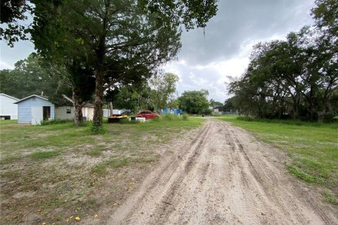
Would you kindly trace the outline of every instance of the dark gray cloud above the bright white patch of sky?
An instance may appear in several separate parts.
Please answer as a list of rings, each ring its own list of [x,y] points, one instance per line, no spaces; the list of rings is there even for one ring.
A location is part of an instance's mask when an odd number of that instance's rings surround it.
[[[193,65],[236,56],[244,41],[282,36],[311,23],[308,0],[221,0],[206,29],[182,34],[180,59]]]

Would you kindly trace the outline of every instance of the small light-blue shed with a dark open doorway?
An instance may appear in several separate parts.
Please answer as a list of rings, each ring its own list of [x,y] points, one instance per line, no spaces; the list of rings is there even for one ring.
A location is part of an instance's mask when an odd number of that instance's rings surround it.
[[[18,104],[18,123],[19,124],[40,124],[42,120],[54,119],[54,104],[48,101],[46,96],[33,94],[23,98]]]

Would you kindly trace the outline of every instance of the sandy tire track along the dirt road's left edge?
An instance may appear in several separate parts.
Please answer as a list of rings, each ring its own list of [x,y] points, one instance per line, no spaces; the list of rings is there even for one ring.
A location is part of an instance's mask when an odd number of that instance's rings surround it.
[[[179,181],[182,180],[185,174],[189,172],[189,169],[191,169],[194,158],[199,154],[199,149],[206,140],[210,124],[210,122],[207,122],[190,143],[178,146],[173,156],[166,159],[166,162],[151,172],[139,188],[139,192],[129,198],[126,203],[115,211],[111,216],[112,219],[108,221],[108,224],[120,224],[117,221],[121,221],[124,217],[127,217],[128,214],[137,210],[137,205],[141,205],[140,202],[142,201],[153,203],[153,205],[148,206],[149,208],[143,210],[144,212],[141,212],[141,214],[144,215],[144,217],[148,217],[149,221],[154,221],[152,217],[156,207],[160,203],[163,203],[165,206],[170,205],[165,200],[168,199],[168,197],[165,198],[165,193],[166,195],[175,193],[175,190],[180,188],[181,183]],[[162,199],[158,200],[160,198]],[[163,206],[163,204],[161,205]],[[130,206],[133,205],[134,207],[131,209]],[[149,224],[149,221],[139,220],[136,224]],[[130,222],[131,221],[128,221],[127,224]]]

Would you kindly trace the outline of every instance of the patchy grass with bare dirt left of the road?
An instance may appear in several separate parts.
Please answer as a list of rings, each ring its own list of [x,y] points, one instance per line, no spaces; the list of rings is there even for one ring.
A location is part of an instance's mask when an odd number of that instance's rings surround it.
[[[202,123],[163,117],[105,124],[106,134],[90,135],[72,122],[0,121],[0,224],[105,223],[98,210],[123,202],[163,154],[158,148]]]

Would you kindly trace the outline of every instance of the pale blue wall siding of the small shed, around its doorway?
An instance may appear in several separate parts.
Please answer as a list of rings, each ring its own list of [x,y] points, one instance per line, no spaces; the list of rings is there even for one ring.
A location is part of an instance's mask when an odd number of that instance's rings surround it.
[[[25,101],[18,103],[18,124],[30,124],[32,122],[32,107],[51,107],[51,120],[54,119],[55,109],[54,104],[42,98],[33,96]]]

